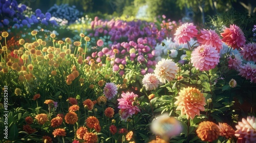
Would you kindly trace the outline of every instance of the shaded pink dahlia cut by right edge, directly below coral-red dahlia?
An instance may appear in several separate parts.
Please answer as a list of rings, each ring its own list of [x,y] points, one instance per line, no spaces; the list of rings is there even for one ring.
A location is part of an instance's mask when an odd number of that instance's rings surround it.
[[[248,43],[241,47],[241,55],[247,61],[256,62],[256,43]]]

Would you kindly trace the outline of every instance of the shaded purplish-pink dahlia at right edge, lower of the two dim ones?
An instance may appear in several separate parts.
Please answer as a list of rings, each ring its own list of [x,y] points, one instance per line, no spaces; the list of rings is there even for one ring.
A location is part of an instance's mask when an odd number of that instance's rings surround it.
[[[247,80],[251,80],[251,82],[256,83],[256,64],[249,63],[244,64],[244,66],[241,66],[239,70],[239,74],[242,77],[245,77]]]

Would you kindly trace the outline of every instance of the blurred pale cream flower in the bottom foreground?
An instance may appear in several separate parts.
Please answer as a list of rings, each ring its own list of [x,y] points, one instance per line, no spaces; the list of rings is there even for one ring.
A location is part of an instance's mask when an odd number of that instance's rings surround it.
[[[157,117],[151,124],[151,131],[162,138],[178,135],[181,130],[179,121],[175,117],[169,117],[168,114]]]

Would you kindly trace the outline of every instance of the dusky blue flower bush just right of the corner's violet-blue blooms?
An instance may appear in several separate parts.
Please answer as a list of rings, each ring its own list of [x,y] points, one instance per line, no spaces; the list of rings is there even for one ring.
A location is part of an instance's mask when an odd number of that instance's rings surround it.
[[[48,12],[52,13],[54,17],[68,20],[69,23],[75,22],[82,15],[82,12],[79,12],[76,6],[70,7],[68,4],[61,4],[59,6],[54,4]]]

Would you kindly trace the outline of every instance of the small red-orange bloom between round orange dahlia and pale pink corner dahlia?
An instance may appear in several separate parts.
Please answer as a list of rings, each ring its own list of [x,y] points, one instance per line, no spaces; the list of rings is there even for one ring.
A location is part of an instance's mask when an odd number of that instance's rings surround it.
[[[220,136],[225,136],[226,138],[234,136],[234,129],[227,123],[219,123],[218,128],[220,129]]]

